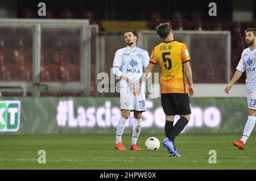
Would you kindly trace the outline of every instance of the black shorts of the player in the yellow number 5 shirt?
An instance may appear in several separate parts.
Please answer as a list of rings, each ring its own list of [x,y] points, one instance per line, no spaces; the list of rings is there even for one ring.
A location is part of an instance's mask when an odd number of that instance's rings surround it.
[[[188,94],[161,94],[161,102],[167,116],[191,114]]]

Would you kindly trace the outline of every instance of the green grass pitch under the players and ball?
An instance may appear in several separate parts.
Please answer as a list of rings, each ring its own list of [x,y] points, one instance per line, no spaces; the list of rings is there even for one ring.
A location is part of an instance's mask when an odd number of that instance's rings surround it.
[[[0,135],[0,169],[256,169],[256,134],[244,150],[232,145],[241,134],[181,134],[176,148],[181,157],[168,157],[160,145],[157,151],[144,148],[154,136],[141,134],[137,144],[142,151],[129,150],[131,134],[122,136],[128,150],[114,149],[115,134]],[[38,163],[38,151],[46,151],[46,163]],[[217,163],[208,162],[209,150],[216,150]]]

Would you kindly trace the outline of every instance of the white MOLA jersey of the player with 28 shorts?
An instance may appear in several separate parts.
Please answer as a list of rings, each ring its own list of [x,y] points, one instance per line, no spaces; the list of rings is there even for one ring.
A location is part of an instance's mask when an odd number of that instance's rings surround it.
[[[150,57],[148,52],[138,47],[125,47],[115,52],[113,68],[117,67],[136,85],[142,76],[143,70],[147,67]],[[142,90],[144,82],[142,84]],[[121,79],[120,91],[130,91],[129,84],[126,80]]]

